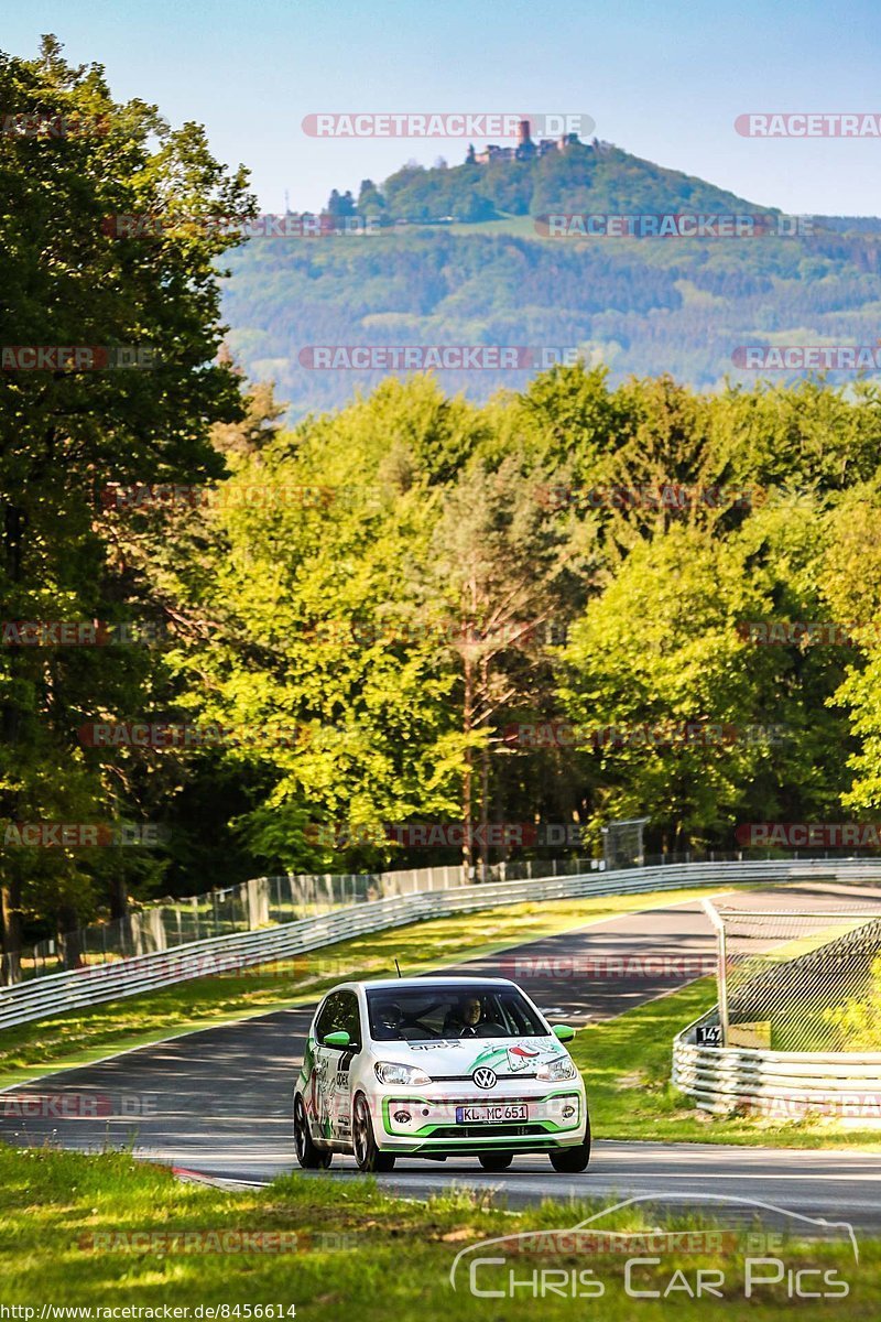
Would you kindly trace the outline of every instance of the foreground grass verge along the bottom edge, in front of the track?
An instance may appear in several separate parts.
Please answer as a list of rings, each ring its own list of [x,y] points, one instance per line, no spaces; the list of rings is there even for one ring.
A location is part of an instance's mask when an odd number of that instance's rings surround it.
[[[514,1298],[476,1298],[468,1290],[466,1276],[457,1277],[458,1289],[453,1292],[449,1272],[461,1249],[487,1237],[576,1225],[610,1206],[613,1198],[593,1206],[548,1200],[511,1214],[457,1191],[421,1202],[396,1199],[375,1182],[358,1178],[289,1175],[264,1190],[225,1191],[180,1183],[166,1169],[137,1163],[127,1154],[87,1157],[46,1149],[16,1151],[1,1145],[0,1188],[0,1305],[33,1307],[36,1317],[44,1303],[91,1309],[168,1305],[190,1310],[226,1305],[226,1315],[232,1318],[238,1305],[272,1303],[284,1306],[285,1318],[293,1305],[296,1317],[308,1322],[425,1322],[436,1317],[450,1322],[557,1322],[581,1317],[621,1322],[634,1315],[655,1322],[670,1318],[675,1301],[683,1300],[689,1315],[703,1317],[703,1309],[712,1307],[720,1319],[749,1317],[766,1322],[793,1306],[786,1284],[765,1286],[758,1297],[745,1300],[745,1257],[750,1252],[762,1256],[761,1248],[757,1253],[745,1247],[748,1228],[722,1252],[654,1253],[659,1264],[641,1268],[635,1277],[638,1288],[663,1292],[676,1269],[693,1282],[697,1268],[717,1268],[724,1272],[722,1298],[709,1302],[688,1300],[680,1289],[667,1300],[639,1300],[634,1306],[623,1288],[623,1263],[631,1255],[602,1252],[518,1255],[509,1259],[507,1268],[485,1268],[478,1278],[485,1288],[498,1288],[507,1281],[509,1268],[520,1281],[552,1268],[567,1273],[589,1270],[604,1284],[601,1300],[553,1293],[535,1298],[522,1288]],[[656,1215],[647,1216],[643,1207],[627,1208],[602,1225],[638,1232],[658,1224]],[[667,1224],[682,1229],[712,1225],[692,1212],[671,1218]],[[125,1232],[225,1231],[296,1235],[300,1247],[285,1253],[194,1253],[165,1241],[164,1252],[152,1252],[148,1247],[122,1249],[118,1239]],[[85,1237],[95,1235],[112,1236],[103,1243],[114,1247],[90,1248]],[[193,1245],[194,1240],[188,1243]],[[490,1252],[498,1255],[499,1249]],[[878,1317],[877,1241],[860,1240],[859,1264],[843,1241],[789,1241],[773,1252],[787,1268],[822,1268],[847,1281],[849,1294],[841,1318]],[[633,1256],[645,1256],[645,1249],[635,1249]],[[816,1281],[810,1277],[811,1288]],[[796,1315],[828,1318],[835,1302],[841,1301],[798,1302]]]

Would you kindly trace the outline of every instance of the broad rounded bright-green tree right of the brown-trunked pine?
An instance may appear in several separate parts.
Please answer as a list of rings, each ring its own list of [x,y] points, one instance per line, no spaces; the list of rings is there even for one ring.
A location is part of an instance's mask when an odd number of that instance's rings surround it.
[[[738,818],[806,820],[835,804],[828,750],[847,727],[824,702],[840,660],[756,646],[742,628],[816,617],[820,549],[816,514],[791,508],[725,539],[676,524],[634,545],[573,627],[560,681],[594,832],[649,814],[664,850],[683,850],[729,837]]]

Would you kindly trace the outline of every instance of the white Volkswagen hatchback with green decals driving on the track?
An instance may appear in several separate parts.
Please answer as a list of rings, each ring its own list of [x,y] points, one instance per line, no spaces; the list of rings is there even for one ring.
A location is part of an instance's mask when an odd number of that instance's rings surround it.
[[[581,1075],[551,1026],[505,978],[346,982],[312,1021],[293,1089],[297,1161],[353,1153],[365,1171],[396,1157],[474,1155],[505,1170],[547,1153],[585,1170],[590,1121]]]

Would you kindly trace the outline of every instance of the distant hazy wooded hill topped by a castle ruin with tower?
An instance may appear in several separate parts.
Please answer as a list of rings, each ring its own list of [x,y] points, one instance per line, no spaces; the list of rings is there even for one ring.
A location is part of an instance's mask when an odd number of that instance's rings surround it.
[[[302,366],[310,345],[577,348],[613,381],[671,371],[716,389],[725,375],[753,378],[734,366],[738,345],[877,338],[881,222],[872,218],[816,217],[811,233],[787,238],[542,233],[546,213],[779,215],[617,147],[408,167],[380,188],[365,181],[357,202],[337,196],[333,210],[383,223],[371,234],[254,239],[227,256],[230,346],[251,377],[277,382],[293,416],[338,406],[386,374]],[[476,399],[528,375],[439,373],[445,390]]]

